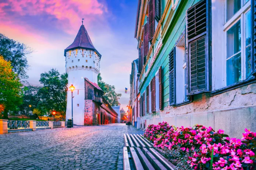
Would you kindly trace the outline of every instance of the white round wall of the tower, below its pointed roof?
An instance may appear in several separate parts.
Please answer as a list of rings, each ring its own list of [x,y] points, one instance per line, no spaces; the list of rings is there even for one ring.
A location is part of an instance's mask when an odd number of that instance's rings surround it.
[[[74,49],[66,52],[66,72],[68,87],[75,86],[73,92],[73,121],[76,125],[84,125],[85,82],[84,78],[97,83],[100,71],[100,58],[96,52],[86,49]],[[67,93],[66,120],[71,119],[71,90]]]

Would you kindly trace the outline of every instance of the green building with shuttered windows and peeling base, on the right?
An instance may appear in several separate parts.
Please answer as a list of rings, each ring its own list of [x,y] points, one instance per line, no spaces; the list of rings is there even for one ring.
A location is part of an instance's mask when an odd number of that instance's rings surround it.
[[[139,0],[142,129],[256,130],[255,0]]]

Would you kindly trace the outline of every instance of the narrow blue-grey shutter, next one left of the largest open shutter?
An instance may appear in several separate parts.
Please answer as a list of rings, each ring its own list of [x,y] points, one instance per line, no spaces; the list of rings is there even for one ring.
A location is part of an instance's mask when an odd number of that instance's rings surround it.
[[[176,98],[176,88],[175,88],[175,79],[176,79],[176,51],[175,47],[171,50],[169,54],[169,64],[170,64],[170,106],[175,104],[175,98]]]

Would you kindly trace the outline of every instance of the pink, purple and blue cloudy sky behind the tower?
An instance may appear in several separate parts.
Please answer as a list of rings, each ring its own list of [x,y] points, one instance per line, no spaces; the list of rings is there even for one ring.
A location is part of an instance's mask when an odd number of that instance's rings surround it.
[[[40,85],[40,74],[51,68],[65,73],[64,49],[74,41],[84,18],[102,55],[103,81],[122,93],[119,102],[127,110],[131,63],[138,58],[137,5],[138,0],[0,0],[0,33],[33,49],[27,56],[27,81]]]

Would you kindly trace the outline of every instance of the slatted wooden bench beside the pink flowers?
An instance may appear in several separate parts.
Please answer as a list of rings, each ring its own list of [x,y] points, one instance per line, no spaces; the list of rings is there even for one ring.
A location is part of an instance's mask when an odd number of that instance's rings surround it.
[[[126,149],[125,149],[126,148]],[[131,155],[130,157],[128,155]],[[142,135],[124,134],[124,170],[175,170],[175,166]],[[127,159],[128,158],[128,159]],[[129,160],[130,159],[130,160]],[[130,166],[132,162],[132,166]]]

